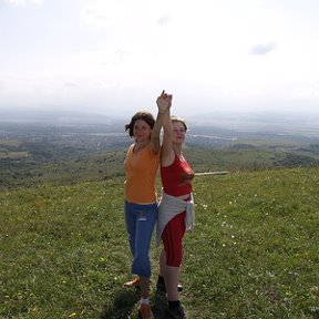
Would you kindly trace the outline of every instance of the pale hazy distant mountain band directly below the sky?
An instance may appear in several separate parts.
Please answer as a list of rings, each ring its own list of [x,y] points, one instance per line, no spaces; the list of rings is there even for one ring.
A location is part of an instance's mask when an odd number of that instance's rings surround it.
[[[79,111],[80,110],[80,111]],[[48,125],[112,125],[126,123],[127,115],[114,117],[96,111],[89,112],[63,109],[20,107],[6,110],[0,107],[2,123],[25,123]],[[128,115],[128,117],[132,114]],[[189,126],[213,126],[235,132],[276,132],[278,134],[301,134],[319,136],[319,113],[288,112],[205,112],[186,119]]]

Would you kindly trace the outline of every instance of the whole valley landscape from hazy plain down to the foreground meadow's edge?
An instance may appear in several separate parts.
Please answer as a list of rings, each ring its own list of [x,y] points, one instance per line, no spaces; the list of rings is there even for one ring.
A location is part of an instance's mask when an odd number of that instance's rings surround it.
[[[123,175],[123,161],[132,143],[124,123],[56,124],[0,122],[0,189]],[[261,127],[257,132],[191,127],[185,154],[196,172],[319,166],[319,137],[310,132],[303,136],[281,130],[264,132]]]

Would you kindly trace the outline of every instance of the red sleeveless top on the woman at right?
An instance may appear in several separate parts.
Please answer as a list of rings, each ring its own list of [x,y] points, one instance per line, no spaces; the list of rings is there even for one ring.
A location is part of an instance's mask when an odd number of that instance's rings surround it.
[[[186,195],[193,192],[192,179],[194,171],[186,161],[181,161],[175,154],[174,162],[167,166],[161,166],[163,189],[171,196]]]

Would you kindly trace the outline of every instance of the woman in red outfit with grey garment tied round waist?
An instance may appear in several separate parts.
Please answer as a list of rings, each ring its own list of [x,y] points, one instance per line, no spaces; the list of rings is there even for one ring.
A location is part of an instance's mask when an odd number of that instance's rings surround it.
[[[157,236],[161,235],[162,237],[164,250],[161,254],[158,281],[164,280],[165,282],[169,316],[172,318],[186,318],[178,299],[177,282],[182,264],[182,239],[185,231],[188,230],[187,228],[193,228],[194,223],[191,183],[194,171],[182,152],[187,131],[186,123],[176,116],[171,117],[169,110],[165,116],[161,154],[163,203],[161,202],[158,206],[157,220]],[[188,210],[191,218],[187,216]]]

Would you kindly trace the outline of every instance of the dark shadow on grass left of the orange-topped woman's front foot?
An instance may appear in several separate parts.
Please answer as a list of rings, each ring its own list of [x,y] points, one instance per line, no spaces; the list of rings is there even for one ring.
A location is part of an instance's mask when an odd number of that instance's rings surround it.
[[[117,292],[112,305],[104,308],[100,319],[131,318],[136,302],[141,298],[138,289],[123,289]]]

